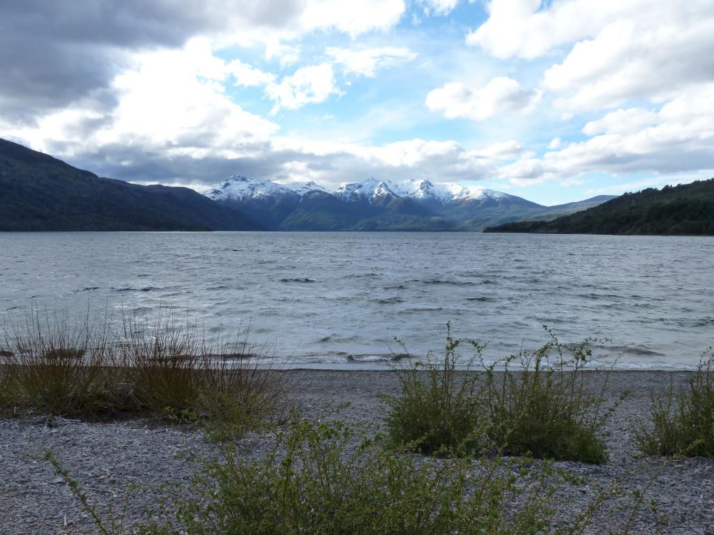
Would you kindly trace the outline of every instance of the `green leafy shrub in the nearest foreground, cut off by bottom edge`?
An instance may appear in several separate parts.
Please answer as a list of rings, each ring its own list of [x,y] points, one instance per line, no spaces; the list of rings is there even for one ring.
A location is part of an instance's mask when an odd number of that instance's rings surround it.
[[[424,462],[340,421],[296,417],[261,459],[223,447],[140,533],[535,535],[554,531],[554,479],[514,459]]]

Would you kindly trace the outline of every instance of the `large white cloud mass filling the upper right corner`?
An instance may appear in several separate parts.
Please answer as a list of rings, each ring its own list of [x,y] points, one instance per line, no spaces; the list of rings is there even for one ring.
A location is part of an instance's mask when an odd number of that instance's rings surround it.
[[[565,113],[663,102],[714,71],[710,0],[492,0],[466,42],[497,58],[566,52],[543,75]],[[561,49],[561,50],[562,50]]]

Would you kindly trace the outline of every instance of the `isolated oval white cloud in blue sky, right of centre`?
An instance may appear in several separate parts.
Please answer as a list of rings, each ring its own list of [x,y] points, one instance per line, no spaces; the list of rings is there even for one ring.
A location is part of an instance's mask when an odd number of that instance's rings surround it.
[[[434,89],[426,97],[431,111],[441,111],[448,119],[483,121],[511,113],[528,112],[540,100],[538,91],[528,91],[513,78],[493,78],[483,88],[451,82]]]

